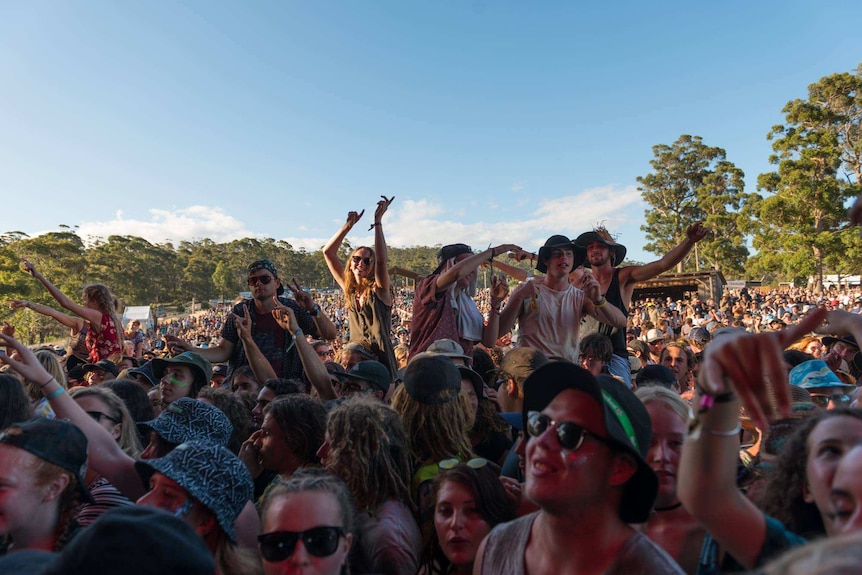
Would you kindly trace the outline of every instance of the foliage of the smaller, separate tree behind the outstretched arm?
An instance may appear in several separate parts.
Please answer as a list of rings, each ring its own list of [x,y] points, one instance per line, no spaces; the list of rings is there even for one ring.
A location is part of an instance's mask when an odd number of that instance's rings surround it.
[[[699,136],[682,135],[672,145],[653,146],[653,172],[637,178],[644,201],[646,251],[664,255],[685,239],[689,226],[702,221],[713,233],[677,266],[677,271],[701,267],[726,275],[742,272],[745,246],[740,211],[748,194],[744,174],[723,149],[706,146]]]

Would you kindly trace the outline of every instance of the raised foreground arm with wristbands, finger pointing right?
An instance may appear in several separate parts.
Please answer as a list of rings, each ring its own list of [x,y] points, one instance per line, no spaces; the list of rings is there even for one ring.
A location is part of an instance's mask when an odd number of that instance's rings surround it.
[[[766,537],[766,519],[736,488],[739,407],[765,429],[772,387],[779,409],[790,410],[782,350],[823,319],[818,311],[793,327],[762,334],[736,330],[706,349],[694,399],[696,422],[680,460],[679,498],[685,508],[741,565],[754,567]],[[769,383],[771,382],[771,383]]]

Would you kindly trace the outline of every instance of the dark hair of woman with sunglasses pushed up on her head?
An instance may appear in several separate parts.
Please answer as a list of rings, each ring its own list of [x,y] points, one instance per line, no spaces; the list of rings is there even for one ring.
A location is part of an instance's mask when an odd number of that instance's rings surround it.
[[[500,481],[500,468],[496,464],[489,461],[484,466],[474,469],[466,463],[459,463],[452,469],[441,470],[431,486],[435,510],[440,489],[446,482],[463,485],[473,493],[479,516],[491,529],[515,518],[515,505],[506,495],[506,489]],[[422,526],[422,531],[425,540],[425,547],[422,550],[424,572],[449,573],[452,565],[440,549],[433,516]]]

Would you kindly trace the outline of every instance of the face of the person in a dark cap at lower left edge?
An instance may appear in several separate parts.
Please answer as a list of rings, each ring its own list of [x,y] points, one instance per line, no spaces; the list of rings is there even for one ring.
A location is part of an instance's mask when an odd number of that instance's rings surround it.
[[[27,532],[35,518],[44,518],[46,486],[36,485],[36,457],[23,449],[0,444],[0,536]]]

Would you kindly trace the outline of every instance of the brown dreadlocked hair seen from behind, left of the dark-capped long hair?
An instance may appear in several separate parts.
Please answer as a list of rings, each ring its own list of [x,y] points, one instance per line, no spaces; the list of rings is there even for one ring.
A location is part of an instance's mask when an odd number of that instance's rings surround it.
[[[360,512],[388,500],[410,501],[410,451],[398,413],[354,394],[329,413],[326,469],[350,489]]]

